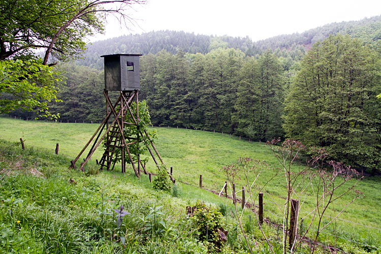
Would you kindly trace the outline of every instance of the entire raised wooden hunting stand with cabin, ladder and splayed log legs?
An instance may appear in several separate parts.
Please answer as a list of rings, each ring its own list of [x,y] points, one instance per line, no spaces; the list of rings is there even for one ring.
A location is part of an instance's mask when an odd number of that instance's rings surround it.
[[[144,173],[147,174],[145,169],[145,164],[142,164],[140,161],[140,155],[137,157],[137,166],[135,166],[133,157],[130,152],[129,146],[132,145],[145,145],[147,150],[151,154],[154,163],[157,168],[160,168],[158,165],[154,153],[150,149],[153,148],[157,157],[160,159],[160,162],[164,165],[162,157],[157,152],[152,140],[148,136],[148,133],[145,130],[141,130],[139,127],[139,99],[138,93],[140,90],[140,67],[139,67],[139,56],[141,54],[113,54],[113,55],[102,55],[105,60],[105,89],[103,94],[106,99],[106,117],[98,127],[97,131],[92,135],[90,140],[87,142],[85,147],[81,150],[78,156],[71,161],[71,167],[76,168],[76,162],[82,153],[86,150],[88,145],[92,140],[97,136],[93,141],[93,144],[86,156],[79,170],[83,171],[83,167],[90,160],[91,155],[98,148],[98,146],[104,142],[104,153],[101,160],[97,164],[101,166],[101,170],[105,167],[107,170],[112,170],[115,166],[116,160],[113,160],[114,157],[118,157],[120,153],[121,164],[122,164],[122,173],[125,173],[125,153],[128,154],[130,163],[134,169],[134,172],[138,178],[140,178],[140,166],[143,168]],[[119,91],[119,97],[116,102],[111,103],[109,98],[108,91]],[[136,110],[131,108],[131,104],[136,103]],[[125,116],[128,115],[129,118]],[[111,117],[114,119],[111,121]],[[126,119],[132,119],[131,122],[126,122]],[[124,135],[124,126],[125,125],[134,125],[136,126],[136,133],[131,137],[126,137]],[[103,130],[106,128],[106,131],[103,133]],[[142,138],[146,137],[146,138]],[[113,165],[112,165],[113,164]],[[112,165],[112,167],[111,167]],[[168,172],[168,171],[167,171]],[[170,174],[168,172],[168,174]],[[172,176],[170,175],[171,180],[174,182]]]

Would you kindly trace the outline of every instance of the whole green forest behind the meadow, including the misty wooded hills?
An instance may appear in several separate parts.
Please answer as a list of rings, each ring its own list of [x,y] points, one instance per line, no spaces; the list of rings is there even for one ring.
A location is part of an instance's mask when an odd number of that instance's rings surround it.
[[[105,103],[102,54],[143,53],[141,91],[154,125],[266,142],[295,138],[373,173],[381,158],[381,16],[264,41],[175,31],[88,45],[56,67],[59,121],[97,122]],[[107,46],[106,46],[107,45]],[[33,113],[13,115],[33,118]]]

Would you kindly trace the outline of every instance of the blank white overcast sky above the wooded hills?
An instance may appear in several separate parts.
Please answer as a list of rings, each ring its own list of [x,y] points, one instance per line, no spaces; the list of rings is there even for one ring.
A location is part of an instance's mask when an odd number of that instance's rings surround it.
[[[253,41],[301,33],[332,22],[381,15],[381,0],[148,0],[133,6],[130,30],[107,18],[104,40],[152,30],[183,30],[203,35],[250,37]]]

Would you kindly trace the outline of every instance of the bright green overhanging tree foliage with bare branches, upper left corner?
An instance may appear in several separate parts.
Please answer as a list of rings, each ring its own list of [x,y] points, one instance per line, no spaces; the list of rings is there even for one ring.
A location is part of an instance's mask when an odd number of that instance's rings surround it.
[[[0,0],[0,113],[16,108],[47,113],[56,99],[57,60],[74,57],[85,38],[103,30],[100,14],[124,14],[145,0]],[[38,54],[42,52],[43,59]]]

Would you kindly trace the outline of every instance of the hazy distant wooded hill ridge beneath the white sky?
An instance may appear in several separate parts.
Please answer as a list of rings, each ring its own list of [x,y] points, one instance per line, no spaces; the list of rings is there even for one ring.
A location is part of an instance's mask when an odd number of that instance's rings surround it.
[[[299,50],[303,48],[308,50],[315,42],[322,41],[329,35],[337,34],[351,35],[351,37],[360,38],[367,44],[376,44],[381,38],[381,16],[360,21],[331,23],[300,34],[279,35],[258,42],[253,42],[248,37],[217,37],[169,30],[151,31],[141,35],[124,35],[87,45],[83,58],[77,63],[101,70],[103,69],[103,59],[100,58],[100,55],[115,53],[146,55],[148,53],[156,54],[163,49],[171,54],[176,54],[179,49],[186,53],[207,54],[216,48],[234,48],[241,50],[247,56],[258,56],[268,49],[292,51],[296,48]]]

